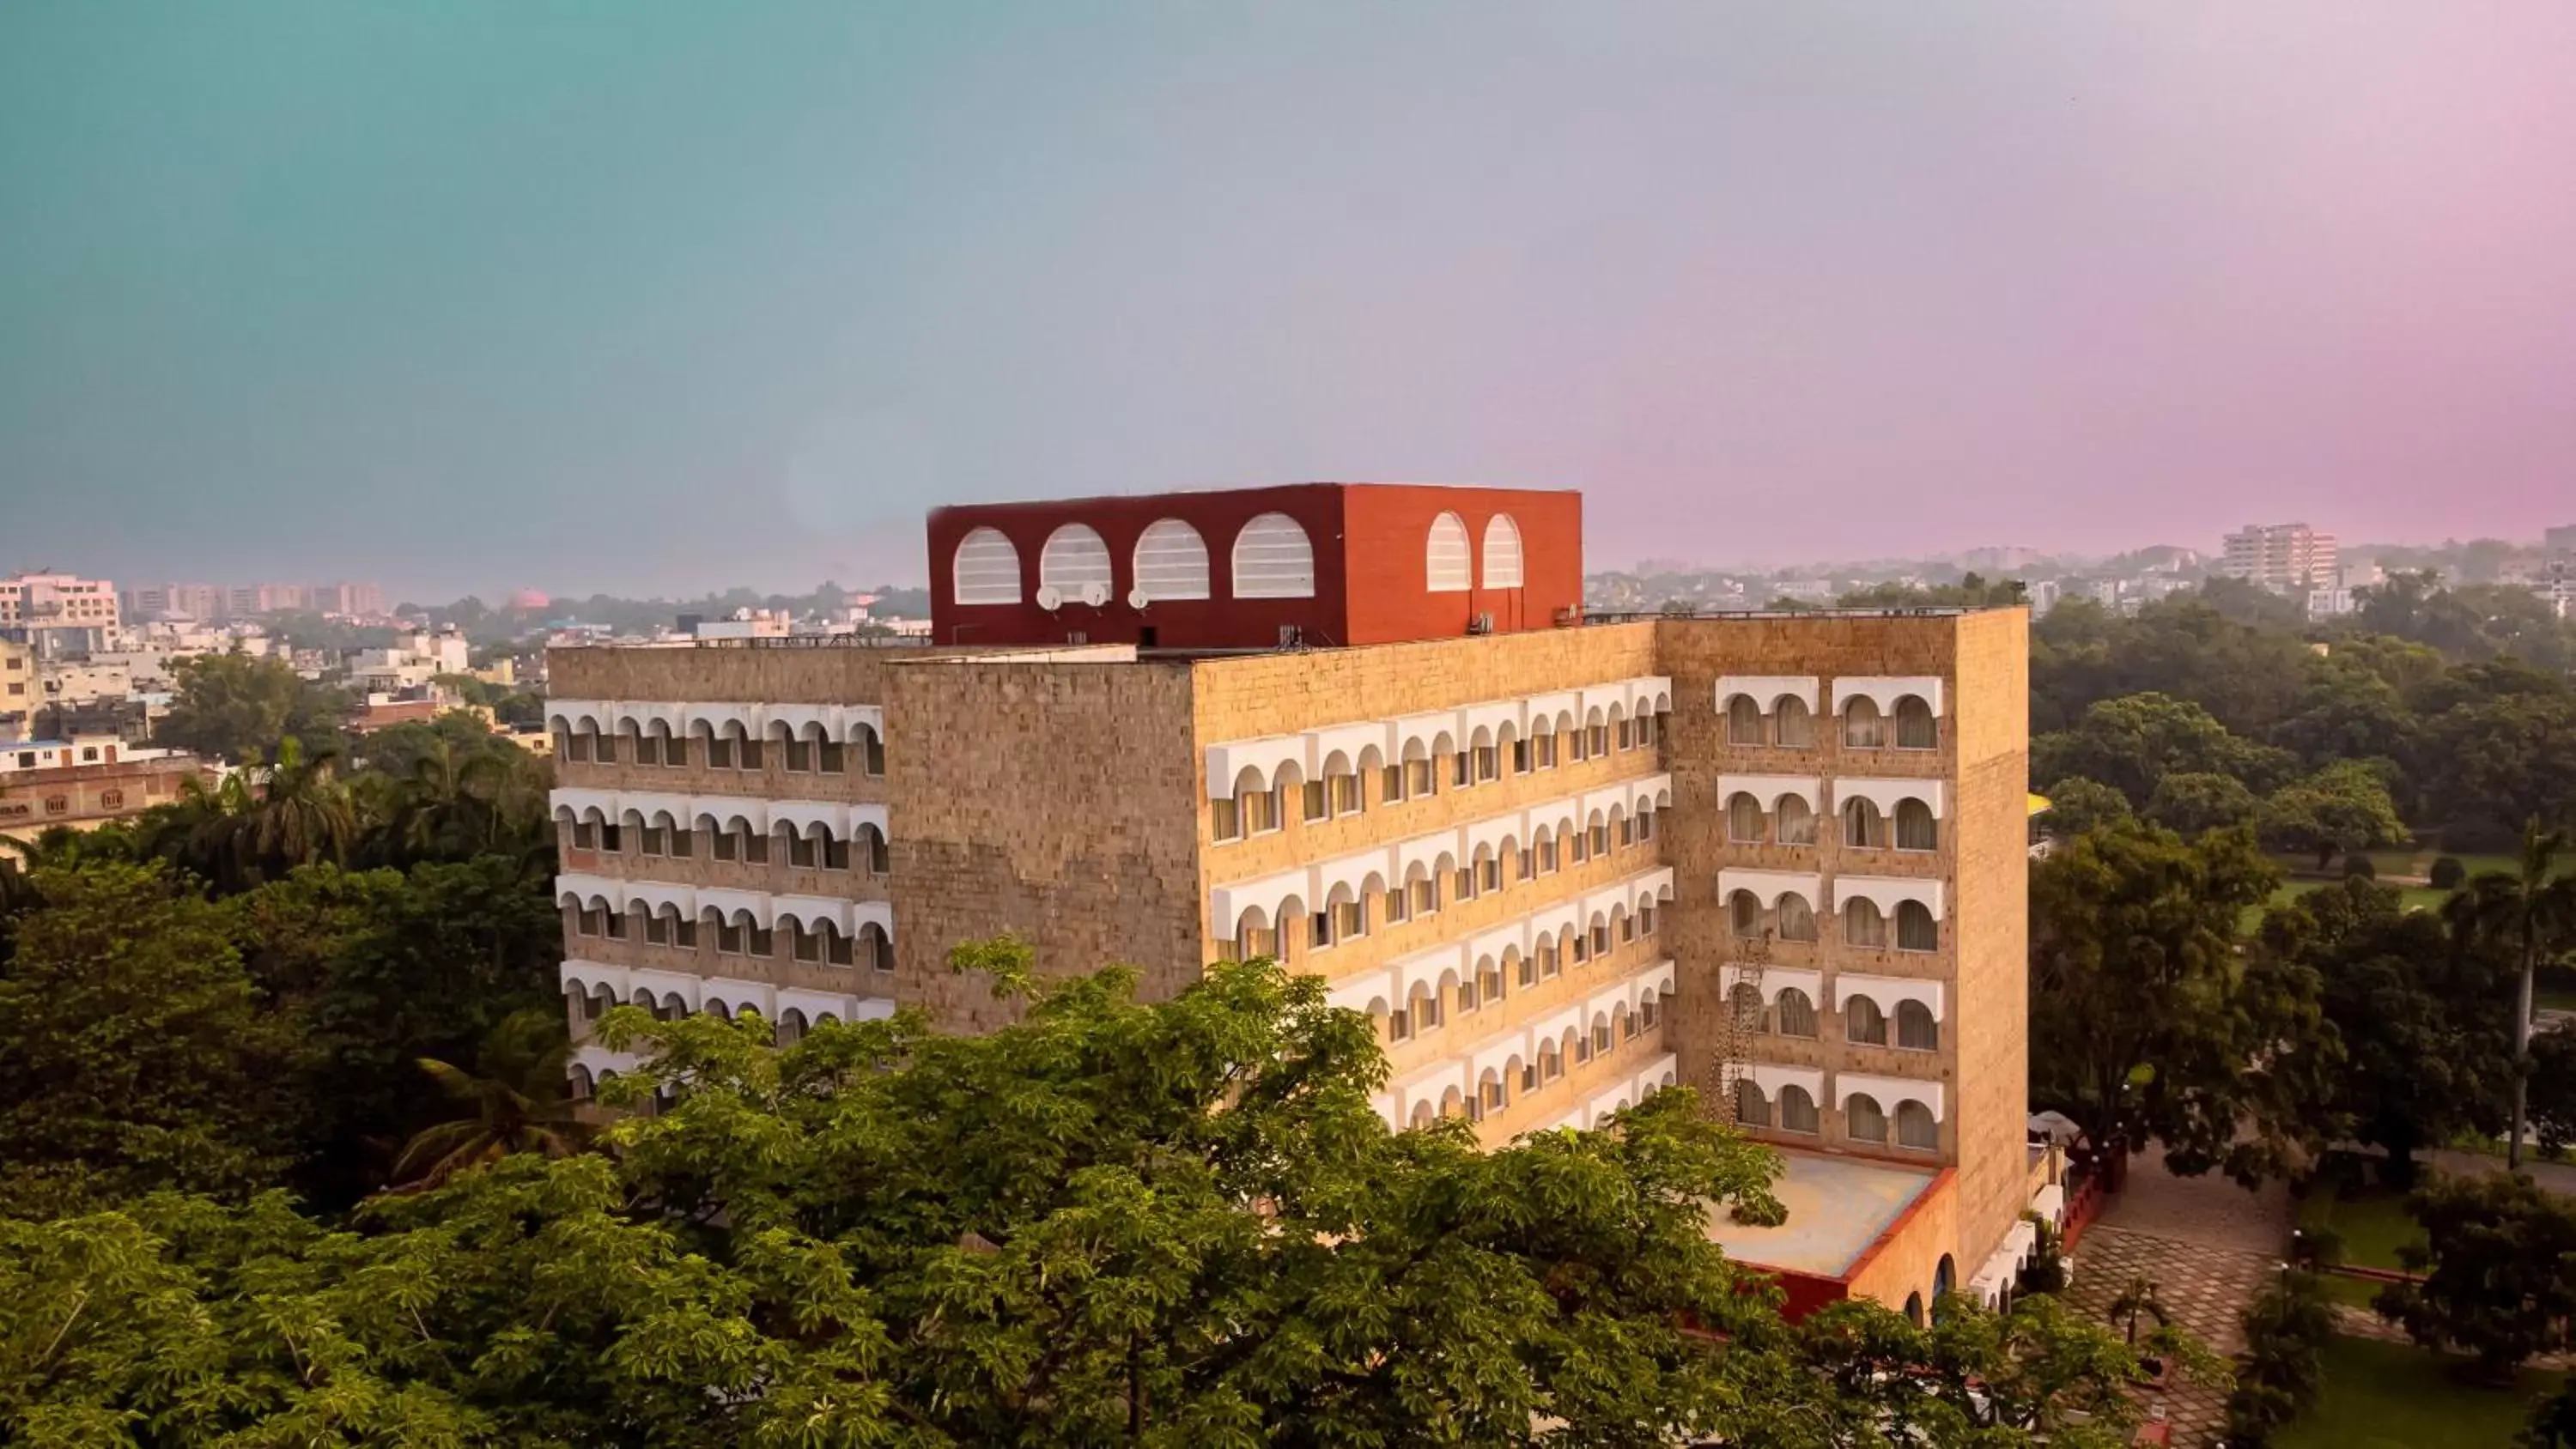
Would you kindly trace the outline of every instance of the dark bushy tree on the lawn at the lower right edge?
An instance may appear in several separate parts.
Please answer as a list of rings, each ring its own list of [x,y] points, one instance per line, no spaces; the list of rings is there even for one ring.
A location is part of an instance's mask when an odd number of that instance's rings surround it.
[[[2406,1197],[2424,1243],[2398,1251],[2424,1274],[2372,1300],[2380,1318],[2432,1349],[2476,1354],[2504,1380],[2568,1343],[2576,1315],[2576,1199],[2522,1174],[2442,1176]]]

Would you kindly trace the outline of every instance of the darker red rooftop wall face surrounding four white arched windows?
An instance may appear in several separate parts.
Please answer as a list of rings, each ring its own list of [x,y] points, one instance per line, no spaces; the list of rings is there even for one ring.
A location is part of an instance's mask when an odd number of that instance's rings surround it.
[[[1231,597],[1234,535],[1262,512],[1285,512],[1314,546],[1311,600]],[[1136,587],[1136,535],[1157,517],[1180,517],[1208,546],[1208,600],[1164,600],[1128,607]],[[1105,607],[1066,602],[1056,613],[1036,605],[1038,553],[1064,522],[1087,522],[1110,546],[1115,577]],[[956,548],[976,528],[997,528],[1020,551],[1018,605],[958,605]],[[1417,584],[1419,587],[1419,584]],[[1090,643],[1144,643],[1162,649],[1275,649],[1280,625],[1298,625],[1311,643],[1347,643],[1342,618],[1342,484],[1291,484],[1206,494],[1139,494],[1048,499],[1025,504],[969,504],[930,512],[930,641],[938,646],[1064,643],[1084,633]]]

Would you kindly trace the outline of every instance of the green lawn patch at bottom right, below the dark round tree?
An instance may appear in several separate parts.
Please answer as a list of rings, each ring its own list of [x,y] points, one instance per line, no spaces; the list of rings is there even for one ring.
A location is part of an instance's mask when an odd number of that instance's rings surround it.
[[[2316,1405],[2280,1431],[2275,1449],[2501,1449],[2532,1400],[2563,1374],[2524,1372],[2512,1387],[2452,1374],[2455,1359],[2406,1343],[2334,1338]]]

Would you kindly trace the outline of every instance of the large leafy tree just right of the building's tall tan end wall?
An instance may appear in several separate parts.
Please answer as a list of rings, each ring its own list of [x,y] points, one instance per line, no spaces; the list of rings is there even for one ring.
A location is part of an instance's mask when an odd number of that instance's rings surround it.
[[[2318,1145],[2308,1109],[2342,1066],[2324,983],[2241,952],[2280,875],[2244,831],[2148,824],[2076,836],[2030,870],[2030,1102],[2099,1148],[2164,1140],[2179,1174],[2254,1184]],[[2115,1158],[2117,1161],[2117,1158]]]

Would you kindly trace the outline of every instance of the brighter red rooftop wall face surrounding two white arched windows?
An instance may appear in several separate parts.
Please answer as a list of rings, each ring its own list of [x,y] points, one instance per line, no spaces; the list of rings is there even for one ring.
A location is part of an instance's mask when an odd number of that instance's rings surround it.
[[[1479,613],[1494,615],[1494,633],[1556,628],[1556,610],[1584,602],[1579,492],[1360,484],[1342,512],[1350,530],[1350,638],[1342,643],[1455,638]],[[1476,587],[1463,595],[1430,592],[1427,543],[1443,512],[1466,522],[1476,558]],[[1484,528],[1497,512],[1520,525],[1517,589],[1484,587]]]

